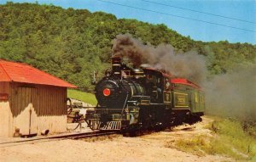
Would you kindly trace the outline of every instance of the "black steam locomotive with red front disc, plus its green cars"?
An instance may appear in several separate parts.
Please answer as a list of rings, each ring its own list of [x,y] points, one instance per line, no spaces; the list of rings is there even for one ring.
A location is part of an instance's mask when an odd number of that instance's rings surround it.
[[[134,133],[201,120],[205,97],[201,87],[160,70],[128,67],[112,58],[112,70],[95,88],[98,104],[85,121],[92,130]]]

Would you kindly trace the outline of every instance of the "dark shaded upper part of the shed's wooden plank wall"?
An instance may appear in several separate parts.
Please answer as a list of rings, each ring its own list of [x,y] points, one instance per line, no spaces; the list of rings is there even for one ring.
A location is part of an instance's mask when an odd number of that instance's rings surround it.
[[[19,113],[32,103],[37,115],[66,115],[67,88],[12,83],[10,100],[13,115]]]

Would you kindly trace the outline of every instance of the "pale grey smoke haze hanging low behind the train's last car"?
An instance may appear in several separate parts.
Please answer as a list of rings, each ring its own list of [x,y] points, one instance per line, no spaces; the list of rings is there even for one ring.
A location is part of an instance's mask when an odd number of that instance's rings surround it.
[[[206,83],[207,114],[256,120],[256,65]]]

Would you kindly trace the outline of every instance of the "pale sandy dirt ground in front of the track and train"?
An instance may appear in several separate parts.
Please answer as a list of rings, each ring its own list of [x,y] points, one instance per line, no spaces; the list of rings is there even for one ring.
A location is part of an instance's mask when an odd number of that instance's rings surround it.
[[[160,131],[142,137],[95,137],[82,140],[60,140],[35,142],[32,144],[0,148],[0,162],[220,162],[233,161],[219,155],[197,156],[167,148],[166,142],[180,138],[208,134],[204,128],[211,119],[204,117],[201,123],[193,126],[178,126],[172,131]]]

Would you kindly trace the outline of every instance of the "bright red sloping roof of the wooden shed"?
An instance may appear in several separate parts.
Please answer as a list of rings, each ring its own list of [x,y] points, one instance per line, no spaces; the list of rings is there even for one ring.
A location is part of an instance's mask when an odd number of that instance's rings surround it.
[[[2,59],[0,59],[0,81],[15,81],[56,87],[76,87],[28,64],[14,63]]]

